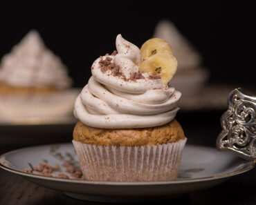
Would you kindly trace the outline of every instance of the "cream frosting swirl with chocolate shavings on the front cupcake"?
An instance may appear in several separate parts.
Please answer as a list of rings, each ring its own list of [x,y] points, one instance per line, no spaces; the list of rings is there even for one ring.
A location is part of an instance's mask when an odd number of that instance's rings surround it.
[[[140,49],[116,37],[112,55],[99,57],[75,101],[74,115],[95,128],[145,128],[174,119],[181,92],[151,72],[139,73]]]

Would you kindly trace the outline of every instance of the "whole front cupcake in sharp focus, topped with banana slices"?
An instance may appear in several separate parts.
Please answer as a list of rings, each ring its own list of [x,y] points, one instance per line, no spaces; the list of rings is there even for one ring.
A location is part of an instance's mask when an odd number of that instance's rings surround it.
[[[170,45],[139,49],[121,35],[96,59],[75,101],[73,145],[89,181],[154,182],[177,176],[186,138],[175,116],[181,92],[168,86],[177,61]]]

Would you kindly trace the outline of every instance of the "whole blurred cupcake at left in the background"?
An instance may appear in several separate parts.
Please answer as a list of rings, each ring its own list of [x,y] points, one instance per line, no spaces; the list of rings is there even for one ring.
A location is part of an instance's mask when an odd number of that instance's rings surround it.
[[[0,120],[64,117],[72,114],[76,90],[59,57],[35,30],[3,56],[0,65]]]

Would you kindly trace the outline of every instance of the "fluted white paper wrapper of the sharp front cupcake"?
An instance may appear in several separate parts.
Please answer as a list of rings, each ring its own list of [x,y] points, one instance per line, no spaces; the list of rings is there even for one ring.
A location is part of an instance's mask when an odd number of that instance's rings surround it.
[[[153,146],[99,146],[73,140],[84,179],[101,182],[174,180],[185,139]]]

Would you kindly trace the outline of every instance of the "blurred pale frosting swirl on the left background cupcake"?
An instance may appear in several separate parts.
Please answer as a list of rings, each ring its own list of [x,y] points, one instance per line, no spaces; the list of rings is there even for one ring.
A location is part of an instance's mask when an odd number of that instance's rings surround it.
[[[71,78],[59,57],[44,46],[39,33],[31,30],[0,66],[0,82],[18,87],[68,88]]]

